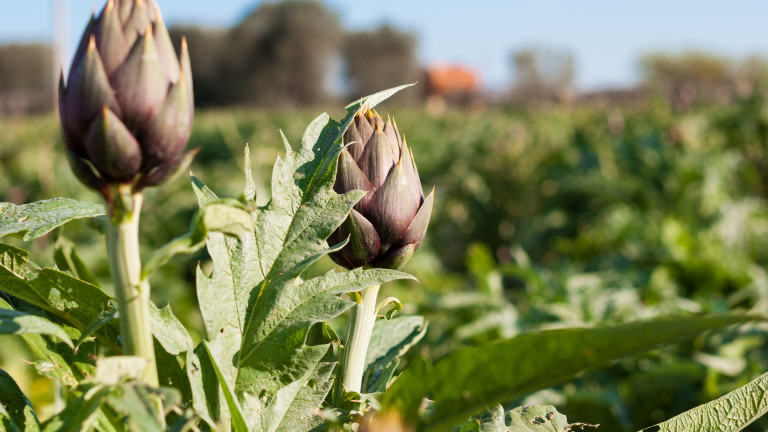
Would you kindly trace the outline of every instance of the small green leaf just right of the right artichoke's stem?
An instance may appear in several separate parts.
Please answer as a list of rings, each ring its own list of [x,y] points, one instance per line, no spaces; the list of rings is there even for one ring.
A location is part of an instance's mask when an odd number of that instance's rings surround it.
[[[386,390],[403,356],[427,333],[424,317],[400,316],[391,320],[377,320],[371,333],[366,353],[363,388],[366,392]]]

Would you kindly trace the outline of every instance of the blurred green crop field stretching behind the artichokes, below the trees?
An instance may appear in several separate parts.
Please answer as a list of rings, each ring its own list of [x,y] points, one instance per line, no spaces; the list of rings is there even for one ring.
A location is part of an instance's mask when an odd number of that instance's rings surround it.
[[[385,114],[386,105],[378,111]],[[284,152],[279,131],[296,147],[318,112],[199,112],[189,147],[201,151],[192,171],[220,196],[236,197],[249,143],[258,202],[265,203],[272,164]],[[656,101],[626,110],[390,114],[414,151],[424,188],[436,188],[427,240],[405,268],[420,282],[388,284],[384,292],[406,312],[428,318],[421,353],[438,359],[458,345],[521,331],[672,313],[768,315],[768,103],[762,98],[686,113]],[[0,119],[0,201],[98,201],[71,174],[59,134],[53,116]],[[146,250],[186,232],[197,207],[186,178],[149,190],[145,202]],[[24,246],[52,265],[52,245],[67,241],[85,245],[80,256],[108,287],[103,237],[94,226],[70,224]],[[153,300],[170,302],[191,329],[201,327],[195,268],[208,261],[204,251],[176,257],[152,277]],[[311,271],[333,267],[325,258]],[[0,350],[2,367],[38,398],[36,405],[53,404],[46,399],[50,381],[17,361],[23,345],[9,336],[0,341],[16,347]],[[600,430],[637,430],[768,370],[767,341],[768,327],[761,325],[703,336],[612,363],[512,406],[551,403],[569,419],[600,423]],[[764,420],[749,430],[766,427]]]

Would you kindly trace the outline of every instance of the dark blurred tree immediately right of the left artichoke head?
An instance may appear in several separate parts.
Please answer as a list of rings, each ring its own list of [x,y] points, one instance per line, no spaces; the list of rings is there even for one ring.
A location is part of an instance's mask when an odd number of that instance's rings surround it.
[[[226,31],[194,26],[173,26],[171,39],[180,50],[181,37],[187,38],[189,57],[192,62],[195,103],[199,106],[222,105],[230,102],[222,89],[221,58],[228,54],[225,49]]]

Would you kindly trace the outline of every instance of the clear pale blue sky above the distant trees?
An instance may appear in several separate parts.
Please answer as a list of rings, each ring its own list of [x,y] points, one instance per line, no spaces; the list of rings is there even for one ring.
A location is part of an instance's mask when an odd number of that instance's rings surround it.
[[[0,43],[49,41],[54,1],[0,0]],[[69,1],[69,49],[104,1]],[[237,23],[258,0],[159,0],[166,22]],[[768,56],[768,1],[761,0],[326,0],[348,29],[382,23],[415,32],[425,63],[459,62],[484,81],[511,80],[510,53],[528,46],[568,50],[581,88],[627,85],[647,52],[700,49]]]

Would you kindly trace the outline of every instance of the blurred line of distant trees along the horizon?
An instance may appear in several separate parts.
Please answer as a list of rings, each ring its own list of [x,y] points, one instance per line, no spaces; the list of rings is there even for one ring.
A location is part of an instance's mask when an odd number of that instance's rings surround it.
[[[182,36],[188,40],[195,102],[201,107],[317,105],[419,81],[422,85],[416,90],[393,100],[414,104],[436,88],[451,88],[451,83],[448,87],[443,82],[430,83],[437,75],[421,64],[418,40],[412,32],[388,25],[348,31],[318,0],[264,2],[231,28],[178,25],[170,33],[177,49]],[[51,58],[51,49],[44,44],[0,45],[0,113],[54,106]],[[567,50],[528,47],[514,50],[510,59],[512,79],[496,101],[527,105],[574,100],[577,65]],[[768,61],[762,57],[734,60],[703,52],[649,54],[639,64],[643,79],[630,92],[643,97],[660,94],[682,109],[697,102],[727,103],[759,88],[768,77]],[[483,96],[475,87],[479,76],[447,77],[468,80],[473,93],[454,101]],[[620,102],[621,98],[611,100]]]

